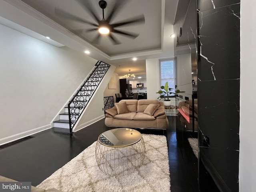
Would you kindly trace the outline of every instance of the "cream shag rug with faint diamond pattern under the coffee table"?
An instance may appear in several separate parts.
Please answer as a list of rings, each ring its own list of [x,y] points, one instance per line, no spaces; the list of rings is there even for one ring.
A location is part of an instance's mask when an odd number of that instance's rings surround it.
[[[142,137],[145,159],[139,170],[130,175],[111,177],[104,174],[95,159],[94,142],[37,187],[63,192],[170,192],[166,137],[148,134]]]

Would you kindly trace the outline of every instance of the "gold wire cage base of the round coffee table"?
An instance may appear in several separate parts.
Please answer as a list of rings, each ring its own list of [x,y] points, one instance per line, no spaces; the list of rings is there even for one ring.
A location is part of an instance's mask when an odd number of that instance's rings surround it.
[[[141,139],[124,147],[110,147],[96,143],[95,156],[98,167],[109,176],[122,176],[133,173],[142,165],[145,158],[145,144]]]

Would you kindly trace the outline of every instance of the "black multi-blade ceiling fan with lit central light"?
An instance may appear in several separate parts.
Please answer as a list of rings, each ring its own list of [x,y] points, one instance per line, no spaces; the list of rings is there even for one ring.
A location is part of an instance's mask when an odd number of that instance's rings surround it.
[[[99,6],[102,9],[102,19],[99,19],[96,16],[96,14],[95,14],[94,10],[92,9],[92,6],[88,0],[77,0],[77,1],[82,5],[82,7],[85,10],[87,10],[91,14],[91,16],[97,21],[97,24],[87,21],[87,20],[80,18],[78,16],[75,16],[73,14],[70,14],[68,12],[65,12],[64,10],[61,10],[58,8],[55,8],[55,14],[62,18],[66,18],[66,19],[74,20],[76,22],[82,22],[82,23],[94,26],[94,28],[87,29],[87,30],[86,29],[78,29],[78,30],[73,31],[76,34],[77,33],[81,34],[82,32],[93,32],[93,31],[98,32],[98,35],[96,36],[96,38],[94,38],[94,40],[92,40],[92,43],[94,43],[94,44],[98,44],[102,35],[109,36],[110,40],[112,40],[113,44],[120,44],[121,42],[116,37],[113,36],[113,33],[121,34],[121,35],[127,36],[129,38],[136,38],[136,37],[138,37],[139,34],[134,33],[134,32],[126,32],[126,31],[119,30],[116,28],[120,27],[120,26],[130,25],[130,24],[139,24],[139,23],[144,24],[145,23],[145,18],[144,18],[143,14],[140,16],[134,17],[134,18],[130,18],[128,20],[111,23],[114,16],[117,14],[117,12],[120,10],[120,8],[124,5],[124,2],[127,2],[127,1],[117,0],[116,3],[114,4],[113,9],[111,10],[110,14],[108,15],[108,17],[106,19],[104,16],[104,9],[107,6],[106,1],[104,1],[104,0],[99,1]]]

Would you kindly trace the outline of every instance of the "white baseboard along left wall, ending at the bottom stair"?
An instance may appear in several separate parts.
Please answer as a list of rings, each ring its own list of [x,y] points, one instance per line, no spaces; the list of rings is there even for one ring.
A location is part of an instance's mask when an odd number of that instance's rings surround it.
[[[28,131],[25,131],[25,132],[22,132],[22,133],[18,133],[16,135],[12,135],[12,136],[9,136],[9,137],[2,138],[2,139],[0,139],[0,145],[15,141],[17,139],[24,138],[26,136],[30,136],[32,134],[35,134],[35,133],[38,133],[38,132],[41,132],[41,131],[44,131],[44,130],[50,129],[50,128],[51,128],[51,124],[48,124],[48,125],[44,125],[42,127],[38,127],[38,128],[32,129],[32,130],[28,130]]]

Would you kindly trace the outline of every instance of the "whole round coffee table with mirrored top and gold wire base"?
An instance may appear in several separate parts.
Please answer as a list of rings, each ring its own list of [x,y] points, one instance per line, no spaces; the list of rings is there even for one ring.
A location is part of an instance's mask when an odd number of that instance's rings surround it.
[[[128,175],[138,170],[144,161],[144,140],[140,132],[130,128],[108,130],[98,137],[95,156],[105,174]]]

